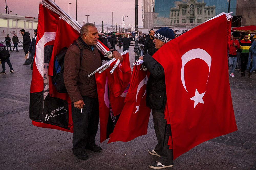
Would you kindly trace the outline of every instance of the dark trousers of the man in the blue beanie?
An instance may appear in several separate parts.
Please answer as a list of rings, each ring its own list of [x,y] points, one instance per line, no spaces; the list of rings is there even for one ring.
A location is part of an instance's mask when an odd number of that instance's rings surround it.
[[[173,164],[173,149],[169,149],[168,139],[169,136],[165,134],[166,120],[164,119],[164,113],[152,110],[154,128],[157,138],[157,145],[154,151],[160,155],[159,162],[163,165]]]

